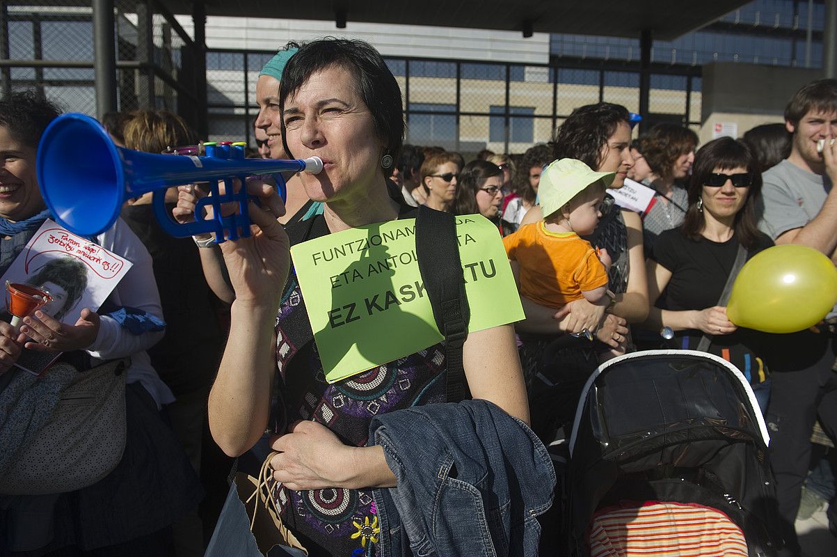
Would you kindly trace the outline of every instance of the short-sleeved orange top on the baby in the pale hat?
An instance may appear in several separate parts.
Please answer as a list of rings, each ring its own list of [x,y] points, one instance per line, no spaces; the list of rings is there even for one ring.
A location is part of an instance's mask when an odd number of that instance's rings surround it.
[[[607,286],[608,273],[587,240],[574,232],[550,232],[543,222],[526,224],[503,238],[506,254],[520,264],[521,295],[546,307],[583,298],[582,291]]]

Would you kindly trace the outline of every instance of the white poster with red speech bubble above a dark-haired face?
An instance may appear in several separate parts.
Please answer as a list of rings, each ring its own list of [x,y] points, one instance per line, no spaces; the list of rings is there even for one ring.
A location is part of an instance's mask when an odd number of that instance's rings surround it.
[[[47,291],[49,302],[40,311],[74,325],[85,307],[93,312],[99,309],[129,269],[131,261],[48,219],[0,277],[0,286],[5,288],[9,281]],[[7,300],[3,296],[0,302],[3,314],[8,314]],[[58,356],[24,349],[15,365],[38,374]]]

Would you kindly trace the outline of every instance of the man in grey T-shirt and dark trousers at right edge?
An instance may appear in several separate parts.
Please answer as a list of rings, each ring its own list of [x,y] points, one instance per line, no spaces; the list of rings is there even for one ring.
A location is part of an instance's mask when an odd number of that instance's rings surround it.
[[[785,108],[785,126],[793,134],[790,156],[763,174],[763,215],[759,228],[777,245],[808,245],[837,260],[837,80],[818,80],[798,90]],[[818,142],[824,141],[823,152]],[[834,312],[830,314],[834,315]],[[803,331],[782,335],[768,364],[773,389],[768,429],[779,513],[787,547],[798,555],[793,521],[800,489],[808,473],[814,420],[831,439],[837,435],[837,373],[833,334]],[[829,514],[837,509],[831,505]]]

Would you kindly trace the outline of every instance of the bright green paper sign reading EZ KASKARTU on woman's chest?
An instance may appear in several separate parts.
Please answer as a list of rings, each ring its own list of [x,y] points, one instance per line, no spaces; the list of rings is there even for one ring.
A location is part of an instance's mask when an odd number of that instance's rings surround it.
[[[469,331],[524,318],[494,224],[456,218]],[[290,249],[326,380],[334,383],[442,340],[424,290],[415,219],[369,224]]]

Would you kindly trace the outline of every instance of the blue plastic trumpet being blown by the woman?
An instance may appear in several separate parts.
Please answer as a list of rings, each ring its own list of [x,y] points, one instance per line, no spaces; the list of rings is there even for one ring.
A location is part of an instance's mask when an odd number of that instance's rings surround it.
[[[172,156],[116,147],[105,128],[84,114],[64,114],[44,132],[38,146],[36,167],[44,202],[55,220],[80,236],[95,236],[108,230],[126,199],[153,193],[154,214],[167,234],[177,238],[214,233],[218,242],[250,235],[248,176],[273,174],[285,199],[283,172],[319,173],[319,157],[305,160],[244,158],[244,146],[207,143],[206,156]],[[240,180],[234,191],[233,180]],[[208,182],[211,195],[198,201],[196,215],[207,205],[212,219],[178,224],[167,214],[166,189]],[[221,194],[218,183],[224,183]],[[234,214],[222,214],[221,204],[237,203]]]

